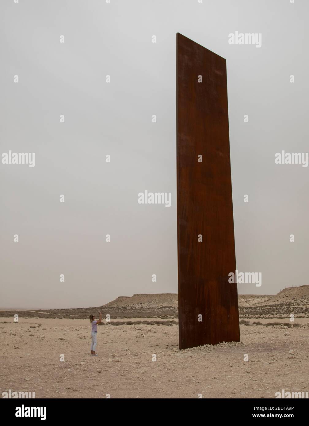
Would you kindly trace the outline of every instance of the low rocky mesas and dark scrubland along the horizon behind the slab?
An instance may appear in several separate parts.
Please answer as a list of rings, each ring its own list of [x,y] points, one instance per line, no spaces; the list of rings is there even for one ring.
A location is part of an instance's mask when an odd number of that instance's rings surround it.
[[[240,318],[309,317],[309,285],[287,287],[278,294],[239,294]],[[119,296],[106,305],[88,308],[12,309],[0,308],[0,317],[18,313],[24,317],[88,318],[91,312],[102,311],[112,318],[177,318],[178,294],[133,294]]]

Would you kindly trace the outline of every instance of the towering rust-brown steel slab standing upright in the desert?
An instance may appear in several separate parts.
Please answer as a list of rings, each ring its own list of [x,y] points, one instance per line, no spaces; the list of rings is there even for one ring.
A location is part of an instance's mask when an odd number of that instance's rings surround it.
[[[177,33],[176,79],[179,348],[238,342],[226,61]]]

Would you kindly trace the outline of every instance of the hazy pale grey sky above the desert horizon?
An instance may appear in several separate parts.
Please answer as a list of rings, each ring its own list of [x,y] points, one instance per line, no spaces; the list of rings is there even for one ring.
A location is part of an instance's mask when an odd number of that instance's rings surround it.
[[[34,152],[35,167],[0,162],[0,306],[178,291],[177,32],[227,60],[237,268],[262,272],[238,292],[307,284],[309,167],[274,156],[308,152],[308,12],[306,0],[1,1],[0,154]],[[261,47],[229,44],[236,31]],[[138,204],[145,190],[170,192],[171,207]]]

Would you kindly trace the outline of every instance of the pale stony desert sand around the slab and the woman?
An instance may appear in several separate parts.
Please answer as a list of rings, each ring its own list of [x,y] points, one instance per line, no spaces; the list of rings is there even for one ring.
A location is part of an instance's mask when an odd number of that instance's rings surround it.
[[[308,328],[240,325],[240,334],[242,343],[179,351],[178,325],[101,325],[99,357],[91,357],[87,320],[19,317],[14,323],[12,317],[1,318],[0,393],[35,391],[36,398],[274,398],[282,389],[309,391]]]

